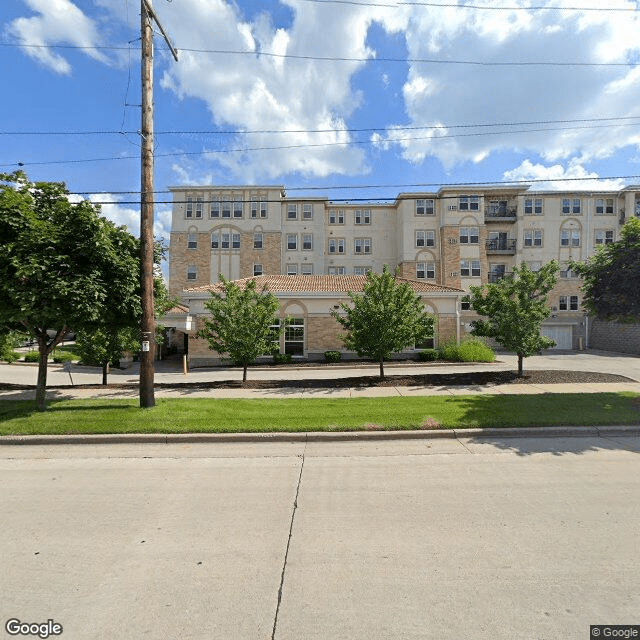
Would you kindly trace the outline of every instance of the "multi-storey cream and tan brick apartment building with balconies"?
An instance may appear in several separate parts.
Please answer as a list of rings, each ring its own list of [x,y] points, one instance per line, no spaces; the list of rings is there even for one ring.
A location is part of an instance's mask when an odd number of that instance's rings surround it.
[[[584,345],[580,281],[569,268],[614,242],[640,216],[640,186],[548,192],[529,186],[443,186],[390,202],[287,195],[283,186],[172,187],[169,290],[260,275],[363,275],[398,268],[408,280],[451,290],[495,282],[514,265],[552,259],[560,278],[544,333],[558,348]],[[460,309],[462,330],[473,310]]]

